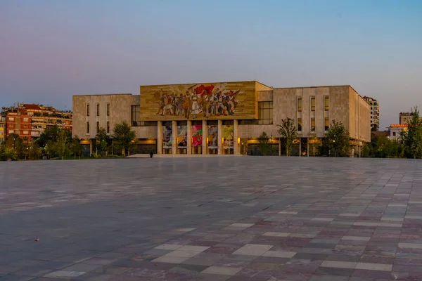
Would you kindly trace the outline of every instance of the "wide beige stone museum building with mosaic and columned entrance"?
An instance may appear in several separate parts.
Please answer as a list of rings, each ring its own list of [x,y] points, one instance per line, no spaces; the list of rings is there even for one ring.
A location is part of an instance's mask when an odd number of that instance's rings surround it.
[[[257,81],[141,86],[139,95],[72,97],[73,137],[84,154],[95,147],[100,128],[131,124],[138,141],[131,154],[257,155],[267,133],[271,155],[285,154],[278,133],[282,119],[298,129],[292,155],[312,156],[332,120],[352,138],[351,155],[371,141],[371,110],[351,86],[272,88]]]

